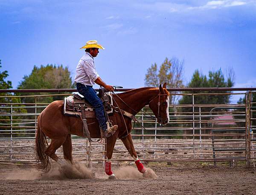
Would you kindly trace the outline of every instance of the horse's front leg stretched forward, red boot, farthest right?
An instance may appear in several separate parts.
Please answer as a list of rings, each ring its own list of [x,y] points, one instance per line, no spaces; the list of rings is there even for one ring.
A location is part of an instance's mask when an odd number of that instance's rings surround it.
[[[140,160],[137,156],[137,153],[134,149],[134,144],[132,142],[131,134],[129,134],[125,138],[122,138],[121,140],[124,143],[128,152],[130,153],[131,157],[134,159],[134,162],[138,168],[138,171],[141,173],[145,173],[146,169],[144,168],[143,164],[140,162]]]

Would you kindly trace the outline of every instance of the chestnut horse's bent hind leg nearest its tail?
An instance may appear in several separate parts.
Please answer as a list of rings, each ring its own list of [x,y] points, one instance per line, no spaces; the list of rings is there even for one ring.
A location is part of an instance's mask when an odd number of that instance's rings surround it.
[[[55,151],[65,142],[66,137],[64,138],[58,138],[58,139],[52,139],[50,145],[47,147],[45,154],[48,155],[52,160],[56,161],[58,164],[62,165],[64,162],[58,158],[58,156],[55,154]]]

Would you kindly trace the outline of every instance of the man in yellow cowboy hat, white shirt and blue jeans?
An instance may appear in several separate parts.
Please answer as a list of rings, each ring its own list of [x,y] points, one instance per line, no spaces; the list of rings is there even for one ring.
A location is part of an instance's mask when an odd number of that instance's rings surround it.
[[[111,127],[107,125],[102,100],[100,100],[96,95],[96,91],[93,89],[93,85],[97,83],[108,91],[113,92],[114,90],[113,86],[107,85],[103,82],[99,77],[99,74],[96,72],[94,65],[93,57],[98,55],[99,49],[105,48],[98,44],[96,40],[89,40],[86,45],[80,49],[85,49],[85,54],[81,57],[78,65],[76,66],[76,89],[84,96],[84,99],[94,107],[99,126],[105,131],[105,136],[108,138],[116,131],[118,126],[114,125]]]

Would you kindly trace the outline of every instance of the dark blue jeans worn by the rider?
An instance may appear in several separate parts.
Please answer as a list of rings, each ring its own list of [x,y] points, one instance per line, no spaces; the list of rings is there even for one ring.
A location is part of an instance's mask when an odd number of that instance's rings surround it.
[[[96,95],[96,91],[93,89],[93,86],[76,83],[76,89],[81,95],[84,96],[84,99],[94,107],[99,125],[105,131],[107,129],[107,120],[103,103],[102,100],[100,100],[100,98]]]

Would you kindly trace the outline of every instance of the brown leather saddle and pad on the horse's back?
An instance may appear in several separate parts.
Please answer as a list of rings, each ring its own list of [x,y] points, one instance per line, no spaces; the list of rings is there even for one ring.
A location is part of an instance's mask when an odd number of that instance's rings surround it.
[[[108,115],[113,114],[113,108],[109,104],[113,104],[112,95],[110,92],[104,93],[101,97],[105,111]],[[63,113],[67,116],[81,116],[81,105],[84,105],[85,117],[96,118],[96,112],[93,106],[84,100],[83,97],[75,94],[64,98]]]

